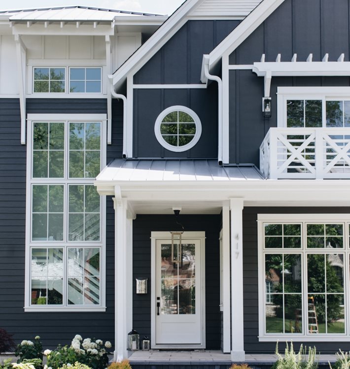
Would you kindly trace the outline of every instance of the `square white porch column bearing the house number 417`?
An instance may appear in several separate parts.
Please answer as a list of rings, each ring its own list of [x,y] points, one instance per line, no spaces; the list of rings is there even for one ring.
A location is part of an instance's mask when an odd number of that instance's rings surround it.
[[[243,332],[243,199],[230,199],[231,210],[231,360],[244,361]]]

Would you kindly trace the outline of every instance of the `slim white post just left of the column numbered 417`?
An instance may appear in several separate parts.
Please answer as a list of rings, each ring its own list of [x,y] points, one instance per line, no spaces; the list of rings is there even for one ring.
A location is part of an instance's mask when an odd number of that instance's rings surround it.
[[[230,312],[230,207],[222,207],[222,322],[223,352],[231,352]]]

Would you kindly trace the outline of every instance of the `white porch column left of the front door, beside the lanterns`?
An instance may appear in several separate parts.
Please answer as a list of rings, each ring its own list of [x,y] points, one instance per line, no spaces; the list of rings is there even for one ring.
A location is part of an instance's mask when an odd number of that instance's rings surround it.
[[[114,361],[128,358],[127,335],[133,324],[133,216],[128,216],[128,201],[115,187],[115,351]]]

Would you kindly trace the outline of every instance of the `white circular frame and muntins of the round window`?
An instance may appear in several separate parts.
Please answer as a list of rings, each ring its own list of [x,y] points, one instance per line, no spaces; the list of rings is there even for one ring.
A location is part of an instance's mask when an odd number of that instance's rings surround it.
[[[179,120],[179,114],[183,112],[185,113],[186,115],[189,115],[192,119],[192,122],[180,122]],[[162,124],[164,124],[163,120],[165,117],[167,117],[168,115],[170,115],[171,113],[177,113],[177,122],[175,121],[171,121],[171,122],[168,122],[170,124],[177,124],[177,133],[174,135],[174,134],[162,134],[161,133],[161,126]],[[186,134],[181,134],[179,132],[179,126],[181,123],[186,123],[186,124],[195,124],[195,129],[196,129],[196,132],[192,135],[188,135],[188,136],[191,136],[192,139],[191,141],[189,141],[187,144],[185,145],[178,145],[178,142],[179,142],[179,138],[181,136],[185,137]],[[187,151],[191,148],[193,148],[197,142],[199,141],[199,139],[201,138],[201,134],[202,134],[202,124],[201,124],[201,121],[198,117],[198,115],[192,110],[192,109],[189,109],[187,108],[186,106],[181,106],[181,105],[175,105],[175,106],[171,106],[165,110],[163,110],[156,122],[155,122],[155,125],[154,125],[154,134],[156,136],[156,139],[157,141],[167,150],[169,151],[173,151],[173,152],[176,152],[176,153],[181,153],[181,152],[184,152],[184,151]],[[172,145],[170,144],[169,142],[167,142],[163,136],[168,136],[168,137],[176,137],[176,140],[177,140],[177,145]]]

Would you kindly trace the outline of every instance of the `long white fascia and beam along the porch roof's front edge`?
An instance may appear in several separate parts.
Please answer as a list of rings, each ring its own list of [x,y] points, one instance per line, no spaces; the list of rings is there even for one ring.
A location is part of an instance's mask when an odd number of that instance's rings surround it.
[[[135,201],[226,201],[242,197],[245,206],[350,206],[349,180],[257,181],[95,181],[100,195],[113,195],[115,184]],[[155,200],[157,199],[157,201]]]

